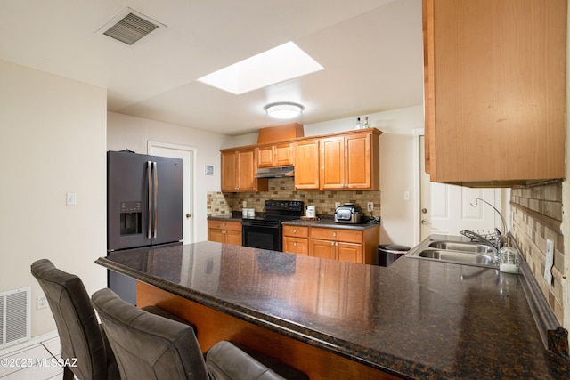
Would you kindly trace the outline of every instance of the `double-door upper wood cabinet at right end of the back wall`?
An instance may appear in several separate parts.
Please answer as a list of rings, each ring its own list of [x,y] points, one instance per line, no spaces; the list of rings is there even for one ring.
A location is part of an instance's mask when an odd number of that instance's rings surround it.
[[[379,131],[322,138],[322,190],[379,190]]]

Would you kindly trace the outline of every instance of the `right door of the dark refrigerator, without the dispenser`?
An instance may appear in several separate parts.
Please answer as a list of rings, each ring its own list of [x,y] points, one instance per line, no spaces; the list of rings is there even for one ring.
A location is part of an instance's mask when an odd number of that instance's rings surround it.
[[[183,161],[153,156],[152,245],[183,239]]]

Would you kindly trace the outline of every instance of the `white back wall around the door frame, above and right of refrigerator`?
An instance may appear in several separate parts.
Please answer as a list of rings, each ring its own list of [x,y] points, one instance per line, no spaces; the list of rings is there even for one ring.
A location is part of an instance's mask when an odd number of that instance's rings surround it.
[[[188,146],[195,149],[196,184],[193,197],[194,242],[208,239],[206,193],[219,191],[220,149],[233,146],[233,138],[219,133],[209,133],[160,123],[139,117],[109,112],[107,116],[107,150],[134,150],[147,153],[147,141],[159,141]],[[215,175],[205,175],[205,166],[214,165]]]

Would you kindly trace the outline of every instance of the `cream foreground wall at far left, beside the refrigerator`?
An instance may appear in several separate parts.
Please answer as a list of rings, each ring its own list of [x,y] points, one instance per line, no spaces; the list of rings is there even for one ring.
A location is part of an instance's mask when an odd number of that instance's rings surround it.
[[[84,280],[87,292],[106,287],[94,263],[106,255],[105,131],[107,93],[0,61],[0,291],[32,287],[32,336],[55,330],[29,271],[49,258]],[[77,206],[66,206],[66,193]]]

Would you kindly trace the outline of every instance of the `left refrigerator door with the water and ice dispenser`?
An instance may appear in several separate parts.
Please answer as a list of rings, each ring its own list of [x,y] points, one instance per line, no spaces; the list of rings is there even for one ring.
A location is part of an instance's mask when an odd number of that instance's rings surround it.
[[[147,166],[151,156],[107,152],[107,249],[151,244]]]

